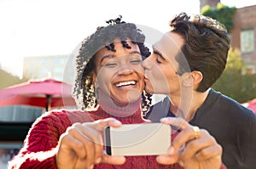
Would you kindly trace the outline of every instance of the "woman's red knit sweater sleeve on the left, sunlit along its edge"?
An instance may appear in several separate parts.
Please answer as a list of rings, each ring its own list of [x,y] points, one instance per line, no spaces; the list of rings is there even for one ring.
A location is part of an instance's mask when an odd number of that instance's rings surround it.
[[[68,126],[71,126],[71,121],[65,111],[42,115],[33,123],[19,154],[9,161],[9,169],[56,169],[56,146]]]

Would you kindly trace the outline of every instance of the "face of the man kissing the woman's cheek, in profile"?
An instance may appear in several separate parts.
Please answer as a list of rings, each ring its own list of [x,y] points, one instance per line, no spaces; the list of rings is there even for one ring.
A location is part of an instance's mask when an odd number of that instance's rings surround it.
[[[153,54],[143,61],[145,89],[148,93],[179,93],[180,81],[175,57],[182,46],[183,38],[172,32],[167,32],[154,44]]]

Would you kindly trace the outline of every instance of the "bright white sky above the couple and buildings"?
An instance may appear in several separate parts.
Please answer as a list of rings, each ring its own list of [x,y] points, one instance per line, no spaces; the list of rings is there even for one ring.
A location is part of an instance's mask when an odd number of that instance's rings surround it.
[[[221,3],[242,8],[256,0]],[[119,14],[164,33],[180,12],[199,14],[199,0],[0,0],[0,66],[21,77],[24,57],[71,54],[97,26]]]

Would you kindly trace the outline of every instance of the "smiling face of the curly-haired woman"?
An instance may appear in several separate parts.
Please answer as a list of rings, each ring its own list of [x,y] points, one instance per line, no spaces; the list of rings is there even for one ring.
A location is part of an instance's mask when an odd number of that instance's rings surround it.
[[[137,101],[143,93],[144,76],[142,56],[138,46],[127,41],[123,47],[119,39],[113,42],[115,51],[101,48],[96,53],[95,86],[120,103]]]

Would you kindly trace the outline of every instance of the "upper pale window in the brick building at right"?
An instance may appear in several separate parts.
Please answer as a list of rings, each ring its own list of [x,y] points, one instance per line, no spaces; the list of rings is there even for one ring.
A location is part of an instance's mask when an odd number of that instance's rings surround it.
[[[254,31],[253,29],[241,31],[241,53],[249,53],[254,50]]]

